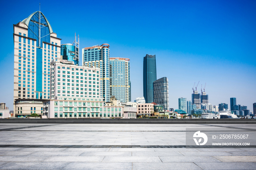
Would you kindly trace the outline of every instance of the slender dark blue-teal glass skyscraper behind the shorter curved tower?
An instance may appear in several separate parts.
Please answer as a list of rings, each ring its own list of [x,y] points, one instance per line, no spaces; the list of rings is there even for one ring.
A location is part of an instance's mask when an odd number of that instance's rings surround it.
[[[157,80],[155,55],[146,55],[143,59],[143,96],[146,103],[153,102],[153,82]]]

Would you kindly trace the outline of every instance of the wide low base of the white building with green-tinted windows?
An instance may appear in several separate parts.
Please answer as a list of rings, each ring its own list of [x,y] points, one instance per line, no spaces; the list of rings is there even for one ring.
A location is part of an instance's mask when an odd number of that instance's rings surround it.
[[[102,99],[47,100],[44,115],[48,118],[122,118],[123,107],[103,106]]]

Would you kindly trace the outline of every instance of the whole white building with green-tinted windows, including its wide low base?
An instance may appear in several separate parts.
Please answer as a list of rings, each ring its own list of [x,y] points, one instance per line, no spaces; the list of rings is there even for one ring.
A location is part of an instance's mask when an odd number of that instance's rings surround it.
[[[123,116],[123,107],[103,106],[100,95],[100,64],[77,66],[70,61],[51,62],[51,99],[44,102],[43,113],[56,117]]]

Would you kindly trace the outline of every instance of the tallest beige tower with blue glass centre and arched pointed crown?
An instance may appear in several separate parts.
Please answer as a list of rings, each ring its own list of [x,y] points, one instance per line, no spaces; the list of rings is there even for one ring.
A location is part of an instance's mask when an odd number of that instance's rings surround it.
[[[50,62],[60,60],[60,40],[40,11],[14,24],[14,116],[26,101],[41,113],[50,98]],[[30,113],[23,109],[19,117]]]

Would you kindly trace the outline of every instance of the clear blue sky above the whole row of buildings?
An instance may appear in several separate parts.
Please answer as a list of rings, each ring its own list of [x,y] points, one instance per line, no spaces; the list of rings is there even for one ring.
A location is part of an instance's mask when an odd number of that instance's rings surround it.
[[[13,108],[13,24],[39,1],[1,1],[0,102]],[[156,55],[157,78],[169,79],[169,107],[191,100],[194,82],[209,102],[256,103],[256,1],[41,1],[61,43],[75,32],[83,47],[109,43],[110,57],[131,59],[132,100],[143,96],[143,57]],[[80,55],[82,61],[82,55]]]

